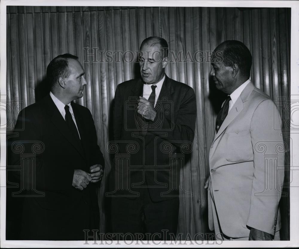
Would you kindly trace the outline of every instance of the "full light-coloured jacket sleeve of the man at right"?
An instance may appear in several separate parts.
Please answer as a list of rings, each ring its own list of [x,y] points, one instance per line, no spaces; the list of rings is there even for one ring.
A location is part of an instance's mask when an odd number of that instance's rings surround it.
[[[251,120],[254,170],[248,227],[274,235],[284,177],[281,119],[275,104],[262,101]]]

